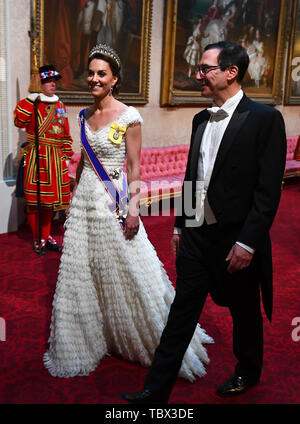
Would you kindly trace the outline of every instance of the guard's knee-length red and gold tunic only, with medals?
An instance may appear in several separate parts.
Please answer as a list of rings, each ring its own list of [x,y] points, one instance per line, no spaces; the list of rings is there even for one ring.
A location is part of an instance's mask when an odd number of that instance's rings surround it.
[[[37,206],[35,97],[36,95],[31,95],[21,100],[14,112],[15,125],[25,128],[27,132],[28,144],[22,153],[25,154],[24,197],[28,211]],[[55,211],[66,209],[70,202],[70,181],[66,160],[73,154],[72,138],[65,105],[57,96],[52,99],[41,94],[40,97],[41,102],[38,104],[40,204],[42,208]]]

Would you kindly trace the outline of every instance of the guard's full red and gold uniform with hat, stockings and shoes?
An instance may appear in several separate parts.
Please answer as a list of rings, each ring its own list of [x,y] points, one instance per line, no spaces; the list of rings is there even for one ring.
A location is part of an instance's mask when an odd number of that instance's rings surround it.
[[[41,79],[46,81],[60,76],[52,66],[40,70]],[[53,68],[53,69],[52,69]],[[38,209],[38,182],[35,143],[35,110],[37,96],[39,168],[40,168],[40,208]],[[70,180],[67,160],[73,155],[72,138],[65,105],[56,95],[33,93],[21,100],[14,112],[14,122],[25,128],[27,144],[21,152],[24,157],[24,197],[27,220],[33,234],[33,248],[36,253],[44,254],[45,248],[61,251],[51,236],[53,212],[66,209],[70,202]]]

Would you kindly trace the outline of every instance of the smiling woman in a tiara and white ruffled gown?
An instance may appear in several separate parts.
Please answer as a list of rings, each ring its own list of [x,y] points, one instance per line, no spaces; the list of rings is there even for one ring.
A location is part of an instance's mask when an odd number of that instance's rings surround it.
[[[114,50],[94,47],[87,82],[95,101],[85,109],[83,125],[90,146],[119,190],[127,157],[129,211],[122,228],[82,149],[44,355],[53,376],[88,375],[110,353],[150,366],[175,294],[138,217],[139,189],[134,182],[139,181],[142,118],[134,107],[114,98],[119,75]],[[198,325],[181,377],[193,381],[205,374],[203,363],[209,359],[204,343],[213,340]]]

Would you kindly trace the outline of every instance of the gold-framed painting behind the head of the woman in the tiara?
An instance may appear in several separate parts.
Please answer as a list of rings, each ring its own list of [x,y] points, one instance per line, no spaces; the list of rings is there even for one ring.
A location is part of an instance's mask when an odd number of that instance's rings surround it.
[[[122,62],[118,98],[148,102],[152,0],[31,0],[32,51],[38,66],[53,64],[62,75],[57,94],[66,103],[91,103],[88,52],[106,43]],[[32,63],[34,61],[32,54]]]

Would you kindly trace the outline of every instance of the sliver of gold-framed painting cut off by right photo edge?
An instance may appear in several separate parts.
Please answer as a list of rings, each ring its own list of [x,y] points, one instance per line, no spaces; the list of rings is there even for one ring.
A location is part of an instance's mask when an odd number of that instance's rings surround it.
[[[300,2],[294,0],[292,18],[289,27],[292,28],[288,65],[286,72],[285,104],[300,104]]]

